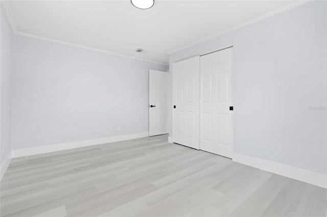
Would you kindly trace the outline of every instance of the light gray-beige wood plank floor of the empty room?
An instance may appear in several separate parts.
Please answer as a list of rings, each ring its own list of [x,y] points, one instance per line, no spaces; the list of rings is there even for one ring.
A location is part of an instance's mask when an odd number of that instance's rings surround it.
[[[167,135],[12,159],[1,216],[326,216],[327,190]]]

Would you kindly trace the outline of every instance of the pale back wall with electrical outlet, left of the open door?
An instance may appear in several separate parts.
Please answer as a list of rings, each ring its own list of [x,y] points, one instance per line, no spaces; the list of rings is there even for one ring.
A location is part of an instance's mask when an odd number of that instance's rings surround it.
[[[167,69],[17,35],[13,62],[13,149],[148,131],[149,69]]]

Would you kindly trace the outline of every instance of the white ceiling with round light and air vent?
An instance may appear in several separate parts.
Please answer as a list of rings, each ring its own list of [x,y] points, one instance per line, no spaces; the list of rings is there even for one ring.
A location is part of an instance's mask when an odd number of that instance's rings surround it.
[[[167,64],[168,53],[295,1],[8,1],[18,33]],[[146,49],[137,53],[136,48]]]

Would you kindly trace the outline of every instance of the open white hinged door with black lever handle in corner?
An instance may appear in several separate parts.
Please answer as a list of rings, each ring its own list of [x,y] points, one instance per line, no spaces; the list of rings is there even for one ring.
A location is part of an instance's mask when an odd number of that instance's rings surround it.
[[[168,133],[168,72],[149,71],[149,135]]]

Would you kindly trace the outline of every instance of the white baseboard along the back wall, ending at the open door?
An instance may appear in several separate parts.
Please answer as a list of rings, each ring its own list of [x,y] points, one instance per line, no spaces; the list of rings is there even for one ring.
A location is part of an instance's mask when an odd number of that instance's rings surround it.
[[[132,139],[143,138],[148,136],[149,136],[149,132],[146,131],[146,132],[125,134],[125,135],[116,135],[114,137],[104,137],[104,138],[91,139],[91,140],[82,140],[77,142],[59,143],[59,144],[44,145],[44,146],[37,146],[37,147],[24,148],[24,149],[16,149],[16,150],[12,150],[12,158],[24,157],[34,154],[43,154],[43,153],[49,153],[54,151],[62,151],[62,150],[73,149],[73,148],[81,148],[85,146],[119,142],[124,140],[132,140]]]

